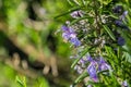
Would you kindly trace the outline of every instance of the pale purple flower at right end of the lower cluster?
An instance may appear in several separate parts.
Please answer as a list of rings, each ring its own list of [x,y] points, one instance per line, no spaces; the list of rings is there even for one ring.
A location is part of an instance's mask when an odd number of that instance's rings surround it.
[[[106,71],[110,70],[110,65],[105,62],[105,60],[100,57],[100,60],[98,61],[98,71]]]

